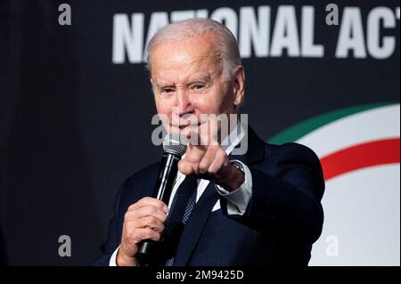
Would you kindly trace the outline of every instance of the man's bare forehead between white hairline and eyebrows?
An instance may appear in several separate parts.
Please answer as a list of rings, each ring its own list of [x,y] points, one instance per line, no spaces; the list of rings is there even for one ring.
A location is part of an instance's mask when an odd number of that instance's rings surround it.
[[[153,46],[153,80],[177,80],[202,76],[220,69],[217,41],[201,36]]]

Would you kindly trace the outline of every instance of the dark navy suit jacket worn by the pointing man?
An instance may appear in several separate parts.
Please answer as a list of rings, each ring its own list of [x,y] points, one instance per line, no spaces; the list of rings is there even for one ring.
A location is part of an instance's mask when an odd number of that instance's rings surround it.
[[[245,213],[227,215],[225,199],[209,183],[184,227],[174,265],[307,265],[323,227],[324,181],[315,153],[297,143],[267,144],[249,128],[247,153],[229,158],[241,160],[252,174]],[[151,196],[159,166],[146,167],[120,187],[95,265],[109,265],[127,207]],[[217,199],[221,209],[212,212]]]

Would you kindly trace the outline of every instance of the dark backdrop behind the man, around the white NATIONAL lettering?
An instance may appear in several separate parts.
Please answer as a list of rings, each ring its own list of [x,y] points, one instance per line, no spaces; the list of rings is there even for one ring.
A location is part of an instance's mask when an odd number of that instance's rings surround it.
[[[72,25],[60,26],[68,3]],[[270,5],[315,7],[315,42],[322,58],[257,57],[247,72],[243,113],[268,139],[286,127],[330,110],[399,101],[399,19],[383,33],[395,52],[335,57],[339,27],[324,22],[321,1],[1,1],[0,2],[0,254],[4,264],[91,264],[98,255],[112,202],[127,176],[160,158],[151,144],[155,113],[143,64],[111,60],[113,15]],[[375,1],[359,7],[366,28]],[[392,10],[398,1],[386,1]],[[341,12],[341,11],[340,11]],[[299,23],[299,17],[298,17]],[[71,238],[61,257],[59,236]]]

